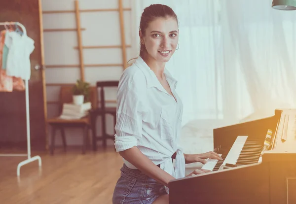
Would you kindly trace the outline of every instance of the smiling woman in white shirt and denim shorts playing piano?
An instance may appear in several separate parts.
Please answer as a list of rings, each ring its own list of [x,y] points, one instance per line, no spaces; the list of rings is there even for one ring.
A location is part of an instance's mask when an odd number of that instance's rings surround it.
[[[221,158],[214,152],[187,155],[178,146],[183,104],[165,68],[178,45],[174,11],[161,4],[145,8],[139,36],[140,56],[124,70],[117,89],[114,145],[124,164],[113,204],[168,204],[169,181],[185,177],[185,163]],[[204,172],[189,175],[197,173]]]

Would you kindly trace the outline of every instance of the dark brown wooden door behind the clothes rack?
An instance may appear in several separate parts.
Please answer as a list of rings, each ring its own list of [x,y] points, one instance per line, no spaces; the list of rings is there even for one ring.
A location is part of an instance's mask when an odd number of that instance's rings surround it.
[[[0,22],[6,21],[23,24],[35,41],[29,80],[31,148],[42,150],[46,148],[46,93],[40,0],[0,0]],[[26,133],[25,91],[0,92],[0,147],[27,148]]]

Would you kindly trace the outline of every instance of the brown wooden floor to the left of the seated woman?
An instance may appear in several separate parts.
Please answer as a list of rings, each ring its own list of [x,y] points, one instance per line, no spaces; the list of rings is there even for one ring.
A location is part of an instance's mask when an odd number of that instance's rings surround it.
[[[0,153],[4,153],[2,150]],[[16,168],[25,157],[0,157],[0,204],[111,204],[122,158],[114,148],[85,155],[80,149],[55,155],[33,152],[38,162]]]

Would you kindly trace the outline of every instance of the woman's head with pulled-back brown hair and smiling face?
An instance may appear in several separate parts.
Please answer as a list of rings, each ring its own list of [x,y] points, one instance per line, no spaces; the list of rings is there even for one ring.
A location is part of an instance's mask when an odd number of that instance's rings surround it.
[[[170,60],[178,44],[178,18],[168,6],[167,12],[163,13],[161,9],[157,10],[154,7],[147,7],[142,14],[139,31],[140,56],[143,59],[153,58],[155,61],[165,63]]]

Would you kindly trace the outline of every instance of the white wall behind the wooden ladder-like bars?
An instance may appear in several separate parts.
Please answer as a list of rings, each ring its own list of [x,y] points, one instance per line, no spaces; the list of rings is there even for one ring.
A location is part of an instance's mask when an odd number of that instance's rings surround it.
[[[123,0],[123,8],[131,8],[130,0]],[[79,0],[80,9],[118,8],[118,0]],[[74,10],[74,0],[42,0],[42,10]],[[132,11],[124,11],[125,43],[132,44],[131,19]],[[80,12],[82,31],[82,46],[90,45],[121,45],[119,12]],[[43,29],[76,28],[75,13],[43,14]],[[134,34],[133,34],[134,35]],[[44,32],[45,65],[78,65],[77,33],[72,32]],[[127,60],[133,48],[126,48]],[[84,64],[121,64],[121,48],[114,49],[83,49]],[[122,67],[85,67],[85,81],[95,86],[96,81],[118,80]],[[46,83],[75,83],[80,77],[79,68],[47,68],[45,71]],[[59,100],[59,86],[47,86],[47,101]],[[106,100],[116,100],[116,89],[107,90]],[[116,106],[116,104],[108,104]],[[59,115],[58,105],[47,104],[48,118]],[[107,132],[113,134],[113,119],[107,116]],[[101,118],[98,117],[100,126]],[[51,129],[49,128],[49,136]],[[97,129],[100,135],[101,129]],[[68,145],[81,145],[82,130],[66,130]],[[109,145],[113,145],[111,140]],[[57,132],[56,145],[61,145],[60,133]],[[100,146],[98,142],[98,147]]]

